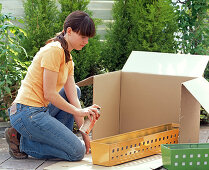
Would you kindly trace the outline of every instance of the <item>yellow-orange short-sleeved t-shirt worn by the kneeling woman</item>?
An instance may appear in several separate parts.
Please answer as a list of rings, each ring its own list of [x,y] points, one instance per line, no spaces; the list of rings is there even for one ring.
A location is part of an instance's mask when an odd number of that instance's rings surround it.
[[[70,57],[71,60],[65,63],[65,53],[58,41],[51,42],[42,47],[29,66],[13,103],[46,107],[49,102],[44,98],[43,93],[44,68],[58,72],[56,90],[59,92],[66,83],[68,76],[74,75],[74,63],[72,56]]]

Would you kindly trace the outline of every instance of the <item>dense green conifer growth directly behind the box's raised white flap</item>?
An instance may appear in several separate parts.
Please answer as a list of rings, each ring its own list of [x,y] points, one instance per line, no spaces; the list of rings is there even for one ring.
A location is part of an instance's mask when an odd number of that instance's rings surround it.
[[[105,67],[121,69],[133,50],[176,52],[174,11],[170,0],[115,1],[102,55]]]

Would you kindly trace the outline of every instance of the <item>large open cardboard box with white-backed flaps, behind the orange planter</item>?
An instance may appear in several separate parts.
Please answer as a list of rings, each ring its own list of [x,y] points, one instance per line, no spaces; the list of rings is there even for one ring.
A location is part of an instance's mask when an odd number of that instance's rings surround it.
[[[102,107],[93,139],[180,123],[180,143],[199,142],[200,104],[209,111],[208,56],[133,51],[120,71],[89,77]]]

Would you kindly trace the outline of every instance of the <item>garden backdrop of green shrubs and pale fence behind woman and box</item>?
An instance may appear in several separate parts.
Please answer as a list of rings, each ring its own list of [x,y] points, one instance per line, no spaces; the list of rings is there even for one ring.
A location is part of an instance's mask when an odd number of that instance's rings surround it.
[[[82,51],[72,52],[76,82],[120,70],[133,50],[209,55],[208,0],[115,0],[111,1],[108,19],[104,18],[105,9],[94,10],[93,2],[100,0],[19,1],[23,2],[22,17],[0,12],[2,121],[9,120],[7,108],[34,55],[48,39],[62,31],[65,17],[75,10],[89,13],[98,32]],[[209,80],[209,64],[204,77]],[[82,88],[82,94],[82,106],[90,105],[92,86]],[[208,123],[208,117],[201,109],[201,122]]]

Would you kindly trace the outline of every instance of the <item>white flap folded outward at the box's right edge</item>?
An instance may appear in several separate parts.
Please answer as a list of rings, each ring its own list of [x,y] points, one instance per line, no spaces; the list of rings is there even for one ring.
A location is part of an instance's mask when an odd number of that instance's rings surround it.
[[[200,105],[209,113],[209,82],[200,77],[184,82],[183,86],[187,88]]]

